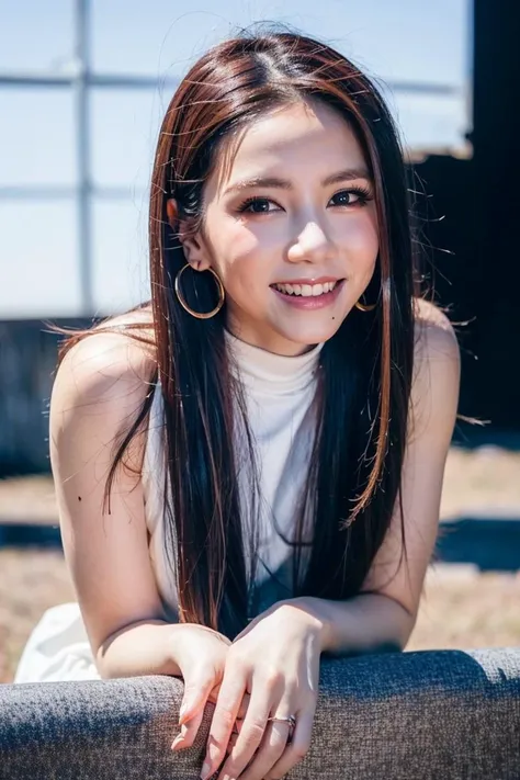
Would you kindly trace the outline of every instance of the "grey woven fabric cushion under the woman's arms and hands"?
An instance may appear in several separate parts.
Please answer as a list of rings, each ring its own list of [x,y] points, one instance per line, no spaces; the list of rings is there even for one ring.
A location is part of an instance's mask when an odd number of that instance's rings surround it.
[[[182,681],[0,686],[0,778],[199,777],[213,705],[179,754]],[[313,742],[289,778],[520,778],[520,648],[321,660]]]

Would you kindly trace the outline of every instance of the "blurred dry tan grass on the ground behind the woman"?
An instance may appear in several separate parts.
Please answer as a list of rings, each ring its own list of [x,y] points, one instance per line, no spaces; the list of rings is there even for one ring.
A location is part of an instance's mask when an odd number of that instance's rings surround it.
[[[441,517],[473,511],[520,519],[520,453],[452,448]],[[0,482],[0,522],[57,523],[49,477]],[[0,547],[0,682],[12,680],[31,630],[43,612],[75,600],[63,554]],[[479,573],[473,566],[431,566],[407,649],[520,645],[520,573]]]

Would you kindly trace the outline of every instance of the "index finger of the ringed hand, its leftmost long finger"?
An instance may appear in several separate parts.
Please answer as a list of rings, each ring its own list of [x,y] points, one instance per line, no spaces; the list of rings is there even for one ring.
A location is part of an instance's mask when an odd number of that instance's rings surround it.
[[[237,666],[233,671],[226,667],[210,726],[207,750],[201,777],[211,777],[226,756],[233,726],[246,693],[246,682],[245,671],[240,671]]]

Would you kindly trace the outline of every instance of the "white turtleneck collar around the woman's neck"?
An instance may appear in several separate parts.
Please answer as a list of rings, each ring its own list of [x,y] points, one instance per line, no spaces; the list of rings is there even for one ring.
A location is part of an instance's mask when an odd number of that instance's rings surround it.
[[[284,355],[247,343],[224,329],[227,348],[235,359],[239,377],[252,389],[270,394],[294,393],[306,387],[315,376],[324,342],[307,352]],[[231,370],[234,369],[231,364]]]

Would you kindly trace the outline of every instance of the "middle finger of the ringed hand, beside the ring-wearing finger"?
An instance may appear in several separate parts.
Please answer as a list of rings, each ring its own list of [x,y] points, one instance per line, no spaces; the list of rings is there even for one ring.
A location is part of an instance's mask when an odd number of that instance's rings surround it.
[[[246,769],[260,745],[268,717],[273,706],[272,691],[269,687],[253,687],[250,705],[246,717],[238,734],[237,743],[230,751],[224,767],[221,770],[218,780],[224,780],[224,777],[238,778]]]

